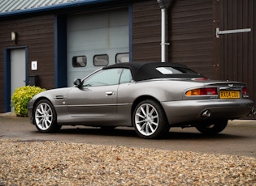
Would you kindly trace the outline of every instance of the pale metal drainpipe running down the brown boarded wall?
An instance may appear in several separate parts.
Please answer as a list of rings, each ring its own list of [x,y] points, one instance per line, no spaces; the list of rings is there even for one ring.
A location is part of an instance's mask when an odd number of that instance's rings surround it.
[[[161,8],[161,61],[165,62],[166,61],[166,28],[165,28],[165,23],[166,23],[166,6],[163,3],[163,0],[157,0],[160,8]]]

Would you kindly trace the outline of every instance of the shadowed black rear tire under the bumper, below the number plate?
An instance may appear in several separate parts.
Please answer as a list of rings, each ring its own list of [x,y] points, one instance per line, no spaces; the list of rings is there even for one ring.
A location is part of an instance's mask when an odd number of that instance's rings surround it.
[[[223,131],[228,125],[228,120],[212,120],[196,125],[196,129],[207,135],[215,135]]]

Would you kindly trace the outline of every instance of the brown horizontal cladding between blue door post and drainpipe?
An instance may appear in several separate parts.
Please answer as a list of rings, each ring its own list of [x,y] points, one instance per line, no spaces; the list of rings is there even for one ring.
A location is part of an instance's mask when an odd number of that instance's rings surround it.
[[[133,61],[161,60],[161,10],[155,0],[132,4]]]

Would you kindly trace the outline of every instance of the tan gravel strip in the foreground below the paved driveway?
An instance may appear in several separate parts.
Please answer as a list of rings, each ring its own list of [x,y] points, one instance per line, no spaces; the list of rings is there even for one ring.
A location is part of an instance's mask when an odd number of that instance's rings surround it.
[[[0,139],[0,185],[256,185],[256,159]]]

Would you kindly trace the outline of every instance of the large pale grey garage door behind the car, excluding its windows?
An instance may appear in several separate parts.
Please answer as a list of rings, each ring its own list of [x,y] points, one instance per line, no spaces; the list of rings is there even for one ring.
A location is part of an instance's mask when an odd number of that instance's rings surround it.
[[[94,55],[107,54],[111,65],[117,53],[128,53],[128,38],[128,8],[68,17],[67,86],[101,67],[93,66]],[[72,57],[83,55],[87,65],[73,67]]]

